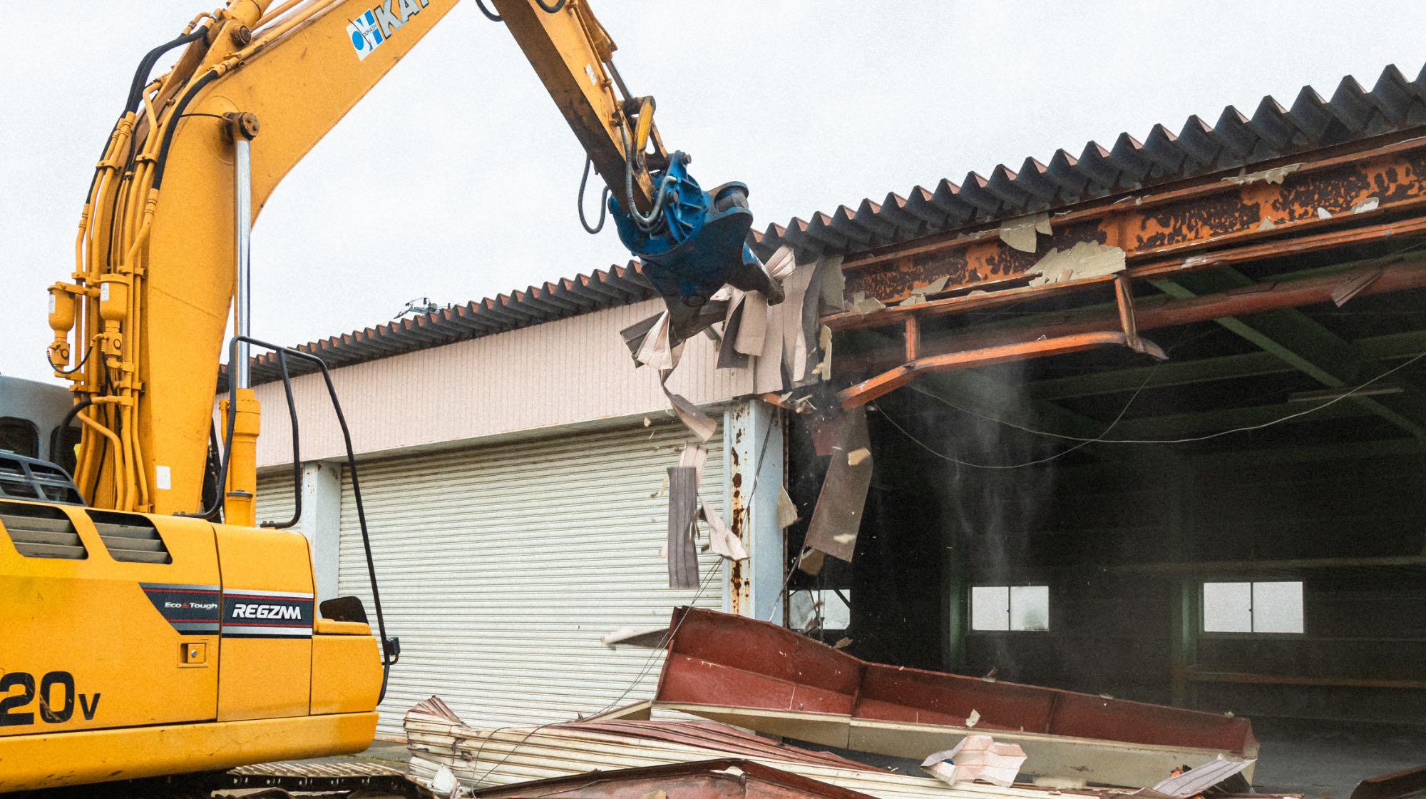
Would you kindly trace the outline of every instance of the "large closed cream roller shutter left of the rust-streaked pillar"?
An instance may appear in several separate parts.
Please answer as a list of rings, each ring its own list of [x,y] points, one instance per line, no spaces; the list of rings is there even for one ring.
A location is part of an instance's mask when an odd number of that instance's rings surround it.
[[[402,645],[381,732],[401,735],[405,711],[432,693],[472,725],[568,721],[652,695],[662,652],[599,638],[666,625],[694,599],[722,605],[716,555],[699,555],[702,594],[669,589],[659,555],[660,487],[690,439],[660,421],[361,464],[388,635]],[[722,512],[720,441],[703,444],[700,491]],[[706,535],[700,525],[700,545]],[[349,474],[338,575],[375,626]]]

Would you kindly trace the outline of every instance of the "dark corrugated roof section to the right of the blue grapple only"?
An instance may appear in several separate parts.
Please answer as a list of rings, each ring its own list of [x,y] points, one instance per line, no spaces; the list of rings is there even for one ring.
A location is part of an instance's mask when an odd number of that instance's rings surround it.
[[[1018,170],[998,164],[990,177],[968,173],[960,184],[943,180],[904,197],[891,193],[881,203],[868,197],[807,221],[773,224],[756,235],[754,248],[761,255],[784,244],[799,257],[854,254],[1423,124],[1426,68],[1407,80],[1389,66],[1370,91],[1352,76],[1342,78],[1330,100],[1305,86],[1286,108],[1268,96],[1251,116],[1228,106],[1212,126],[1195,114],[1178,134],[1156,124],[1142,141],[1121,133],[1108,147],[1089,141],[1079,156],[1057,150],[1048,164],[1035,158]]]

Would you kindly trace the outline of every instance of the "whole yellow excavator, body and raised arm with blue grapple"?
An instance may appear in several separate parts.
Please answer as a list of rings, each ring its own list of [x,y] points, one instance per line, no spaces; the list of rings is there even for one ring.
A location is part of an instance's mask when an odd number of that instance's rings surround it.
[[[702,324],[724,284],[780,295],[744,244],[746,187],[704,191],[665,148],[653,100],[625,86],[589,6],[491,3],[588,153],[586,180],[592,167],[606,184],[600,218],[643,261],[672,327]],[[314,606],[307,539],[255,526],[250,352],[272,350],[284,375],[315,358],[252,337],[248,240],[278,181],[453,4],[228,0],[141,58],[74,271],[48,290],[48,360],[73,398],[56,429],[81,431],[73,472],[0,451],[0,792],[371,743],[398,642],[369,546],[371,619],[356,598]]]

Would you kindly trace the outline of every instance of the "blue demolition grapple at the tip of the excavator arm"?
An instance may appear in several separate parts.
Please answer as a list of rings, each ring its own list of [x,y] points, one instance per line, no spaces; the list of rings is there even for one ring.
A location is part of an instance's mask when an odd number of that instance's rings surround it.
[[[616,197],[609,197],[619,238],[643,261],[643,274],[663,295],[679,338],[696,332],[689,328],[707,317],[700,308],[724,284],[760,291],[774,305],[783,300],[781,285],[747,247],[753,227],[747,185],[724,183],[703,191],[687,167],[689,157],[674,153],[669,168],[653,173],[663,204],[652,223],[626,213]]]

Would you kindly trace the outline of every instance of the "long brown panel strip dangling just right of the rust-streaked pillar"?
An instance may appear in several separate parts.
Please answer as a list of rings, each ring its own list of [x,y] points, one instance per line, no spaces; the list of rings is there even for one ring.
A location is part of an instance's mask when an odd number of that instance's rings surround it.
[[[867,435],[866,408],[843,411],[834,424],[837,431],[833,458],[807,526],[806,544],[850,564],[857,549],[867,489],[871,487],[871,441]],[[838,457],[838,452],[846,455]]]

